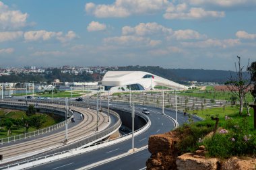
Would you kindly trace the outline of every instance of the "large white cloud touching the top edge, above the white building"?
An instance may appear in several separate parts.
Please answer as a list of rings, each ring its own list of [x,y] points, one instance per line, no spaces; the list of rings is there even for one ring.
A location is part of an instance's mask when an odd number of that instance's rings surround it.
[[[111,5],[86,3],[85,10],[96,17],[128,17],[161,11],[169,3],[168,0],[116,0]]]

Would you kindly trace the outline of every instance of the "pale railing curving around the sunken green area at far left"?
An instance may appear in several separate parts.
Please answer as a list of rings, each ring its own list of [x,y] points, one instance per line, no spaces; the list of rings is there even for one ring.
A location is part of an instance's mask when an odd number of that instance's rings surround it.
[[[1,102],[1,101],[0,101],[0,105],[16,105],[16,106],[28,107],[28,105],[26,105],[25,103],[13,103],[13,102]],[[64,113],[66,112],[66,110],[63,109],[63,108],[49,106],[49,105],[36,105],[35,108],[57,110],[59,112],[64,112]],[[69,114],[70,118],[67,120],[67,123],[71,122],[71,117],[73,116],[73,112],[68,110],[68,114]],[[36,130],[36,131],[33,131],[33,132],[26,132],[24,134],[18,134],[18,135],[15,135],[15,136],[9,136],[7,138],[0,138],[0,142],[1,142],[1,144],[4,144],[4,143],[9,143],[9,142],[14,142],[16,140],[22,140],[22,139],[26,139],[26,138],[31,138],[32,136],[37,136],[37,135],[40,135],[40,134],[45,134],[47,132],[51,132],[53,130],[61,128],[61,127],[65,126],[65,124],[66,124],[66,121],[63,121],[63,122],[60,122],[59,124],[55,124],[53,126],[42,128],[40,130]]]

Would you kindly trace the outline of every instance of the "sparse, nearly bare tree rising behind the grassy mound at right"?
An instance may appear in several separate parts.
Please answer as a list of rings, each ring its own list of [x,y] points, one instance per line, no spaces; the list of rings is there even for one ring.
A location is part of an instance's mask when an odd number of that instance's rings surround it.
[[[234,67],[236,69],[236,75],[235,76],[230,75],[225,85],[227,85],[232,95],[238,98],[239,115],[242,116],[244,103],[247,106],[247,114],[249,114],[249,106],[247,105],[245,96],[249,91],[251,91],[251,77],[249,77],[250,75],[249,69],[248,69],[249,62],[248,62],[246,71],[244,71],[245,66],[243,67],[241,66],[241,57],[237,56],[237,58],[238,58],[238,65],[236,65],[236,62],[234,63]]]

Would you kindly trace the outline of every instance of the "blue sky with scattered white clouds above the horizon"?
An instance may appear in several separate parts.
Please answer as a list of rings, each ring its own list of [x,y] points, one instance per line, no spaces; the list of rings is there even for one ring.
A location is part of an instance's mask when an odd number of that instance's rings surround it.
[[[234,70],[256,60],[256,0],[0,1],[0,67]]]

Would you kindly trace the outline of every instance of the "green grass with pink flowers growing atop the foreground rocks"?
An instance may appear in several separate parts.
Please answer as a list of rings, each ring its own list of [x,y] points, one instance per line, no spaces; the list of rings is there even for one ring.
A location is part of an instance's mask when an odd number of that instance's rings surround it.
[[[236,106],[225,107],[225,110],[223,108],[200,110],[197,115],[205,118],[204,121],[185,124],[177,129],[185,133],[179,144],[179,150],[181,153],[195,152],[198,146],[203,144],[207,149],[207,157],[220,159],[244,155],[255,157],[256,130],[253,128],[252,109],[250,114],[251,116],[247,116],[246,110],[243,110],[243,116],[239,116]],[[218,116],[220,119],[218,127],[228,131],[225,134],[217,131],[215,136],[205,138],[205,134],[212,131],[216,123],[210,116]]]

